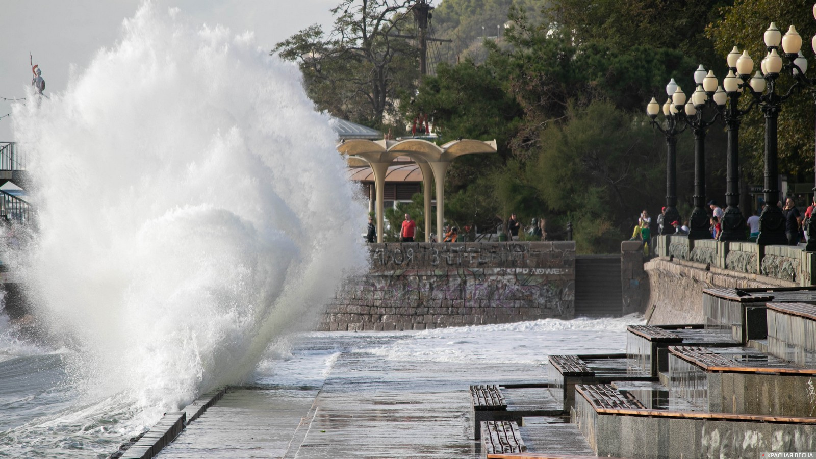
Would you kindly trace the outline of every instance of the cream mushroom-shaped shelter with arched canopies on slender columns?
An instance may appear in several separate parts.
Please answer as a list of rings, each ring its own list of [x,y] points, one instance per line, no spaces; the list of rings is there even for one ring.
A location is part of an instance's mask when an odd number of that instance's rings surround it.
[[[419,165],[422,171],[425,197],[425,234],[430,234],[431,176],[437,186],[437,241],[444,238],[442,225],[445,220],[445,174],[455,158],[463,154],[496,153],[496,141],[454,140],[445,145],[436,145],[428,140],[344,140],[337,145],[341,154],[348,156],[351,166],[367,163],[374,172],[375,201],[377,213],[377,242],[383,242],[383,189],[388,166],[398,156],[407,156]]]

